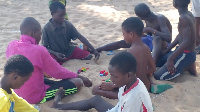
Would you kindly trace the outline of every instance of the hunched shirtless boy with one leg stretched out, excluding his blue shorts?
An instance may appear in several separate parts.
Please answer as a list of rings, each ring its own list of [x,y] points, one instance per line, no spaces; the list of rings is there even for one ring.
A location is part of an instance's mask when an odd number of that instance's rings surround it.
[[[167,43],[171,42],[172,26],[170,21],[161,14],[153,13],[149,7],[144,4],[135,6],[136,15],[145,21],[146,27],[144,33],[150,34],[153,37],[153,59],[157,62],[160,53],[167,48]],[[145,43],[145,42],[144,42]],[[98,52],[115,50],[119,48],[130,48],[131,44],[127,44],[124,40],[110,43],[108,45],[97,48]]]

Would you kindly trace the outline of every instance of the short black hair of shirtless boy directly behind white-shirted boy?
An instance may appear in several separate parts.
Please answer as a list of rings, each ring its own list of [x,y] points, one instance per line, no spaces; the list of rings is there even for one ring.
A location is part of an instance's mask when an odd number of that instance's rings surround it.
[[[142,36],[144,24],[138,17],[129,17],[122,23],[122,27],[126,30],[126,32],[134,31],[138,36]]]

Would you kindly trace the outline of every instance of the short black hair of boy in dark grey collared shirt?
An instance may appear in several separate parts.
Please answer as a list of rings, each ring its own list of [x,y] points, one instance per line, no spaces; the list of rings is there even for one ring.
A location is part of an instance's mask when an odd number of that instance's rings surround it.
[[[58,8],[64,10],[65,6],[61,2],[56,1],[56,2],[52,2],[49,7],[51,13],[55,13],[58,10]]]

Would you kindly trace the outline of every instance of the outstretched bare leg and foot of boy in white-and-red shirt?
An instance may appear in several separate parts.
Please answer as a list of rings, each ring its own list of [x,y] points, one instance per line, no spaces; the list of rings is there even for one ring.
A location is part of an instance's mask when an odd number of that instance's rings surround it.
[[[58,93],[58,92],[57,92]],[[98,112],[106,112],[108,109],[113,108],[114,106],[106,102],[100,96],[94,96],[87,100],[81,100],[72,103],[61,104],[61,94],[56,94],[54,102],[52,103],[52,108],[57,108],[60,110],[80,110],[86,111],[92,108],[95,108]]]

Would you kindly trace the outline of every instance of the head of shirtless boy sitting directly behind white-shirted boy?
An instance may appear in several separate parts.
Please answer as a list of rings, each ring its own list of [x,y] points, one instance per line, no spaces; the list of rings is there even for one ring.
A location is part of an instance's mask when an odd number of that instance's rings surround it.
[[[122,33],[126,43],[131,44],[134,37],[141,37],[144,24],[138,17],[130,17],[122,23]]]

